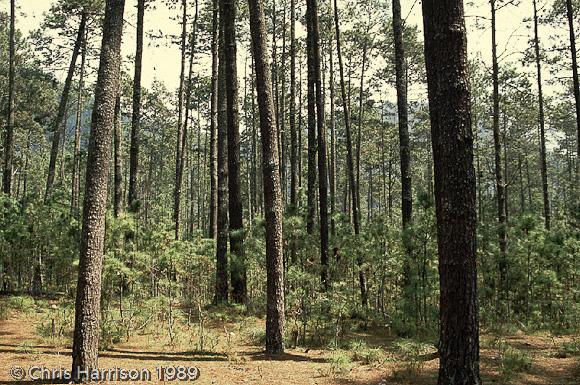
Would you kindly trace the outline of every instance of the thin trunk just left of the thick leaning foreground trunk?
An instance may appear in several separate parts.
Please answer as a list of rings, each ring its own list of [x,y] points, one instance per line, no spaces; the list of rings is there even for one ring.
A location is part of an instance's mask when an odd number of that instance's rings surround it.
[[[71,194],[71,209],[76,212],[79,208],[80,200],[80,180],[81,180],[81,132],[82,132],[82,118],[83,118],[83,90],[85,86],[85,66],[87,59],[87,36],[83,36],[82,43],[83,53],[81,55],[81,68],[79,74],[79,88],[77,96],[77,116],[75,123],[75,143],[73,150],[73,174],[72,174],[72,194]]]

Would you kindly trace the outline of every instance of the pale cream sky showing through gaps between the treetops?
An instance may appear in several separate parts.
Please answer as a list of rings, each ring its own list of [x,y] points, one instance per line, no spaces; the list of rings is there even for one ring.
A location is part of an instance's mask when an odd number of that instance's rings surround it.
[[[551,4],[552,0],[548,0]],[[31,30],[38,28],[40,25],[43,13],[46,12],[54,0],[16,0],[19,7],[19,14],[17,18],[17,28],[19,28],[25,35]],[[8,0],[0,0],[0,10],[8,10]],[[145,19],[146,31],[163,31],[164,34],[178,35],[180,33],[179,23],[171,18],[176,17],[180,12],[179,8],[174,10],[167,9],[161,5],[161,1],[157,1],[157,9],[155,11],[148,10]],[[192,2],[193,3],[193,2]],[[200,7],[204,6],[204,0],[200,0]],[[466,1],[466,23],[469,30],[468,47],[471,57],[481,56],[486,64],[489,65],[491,61],[491,36],[489,30],[489,20],[482,17],[489,17],[489,2],[488,0],[473,0]],[[540,8],[543,1],[540,0]],[[190,6],[190,13],[193,13],[193,5]],[[136,24],[136,0],[127,0],[125,11],[126,24],[123,36],[123,55],[127,57],[133,55],[135,51],[135,24]],[[531,22],[524,22],[524,18],[532,15],[532,0],[521,0],[520,4],[509,6],[501,9],[497,15],[497,29],[498,29],[498,52],[502,55],[502,60],[517,61],[521,58],[521,51],[523,51],[528,40],[533,33],[531,29]],[[407,17],[407,23],[422,26],[421,18],[421,2],[420,0],[402,0],[402,15]],[[478,28],[484,26],[485,28]],[[562,21],[563,29],[560,33],[566,34],[565,21]],[[549,27],[540,27],[540,38],[543,39],[543,47],[548,46],[547,36],[554,31],[548,30]],[[238,50],[242,51],[242,50]],[[242,63],[245,60],[245,52],[239,52],[239,67],[243,67]],[[243,56],[242,56],[243,55]],[[160,44],[158,47],[146,46],[144,51],[143,61],[143,84],[149,86],[155,78],[163,81],[169,89],[175,89],[178,85],[180,73],[180,53],[177,45],[169,47],[166,44]],[[202,64],[197,71],[207,71],[208,62],[202,61]],[[131,63],[126,63],[129,68]],[[544,71],[546,83],[549,84],[550,75],[547,70]],[[59,78],[63,74],[57,74]]]

